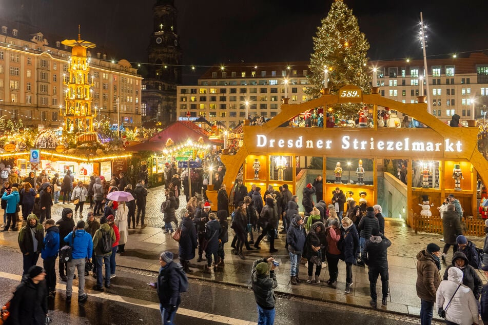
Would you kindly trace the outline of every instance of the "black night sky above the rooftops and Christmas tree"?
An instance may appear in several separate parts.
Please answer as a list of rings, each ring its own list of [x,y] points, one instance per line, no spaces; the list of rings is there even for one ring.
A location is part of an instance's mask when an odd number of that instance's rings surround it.
[[[420,57],[420,11],[429,27],[427,55],[488,49],[482,0],[344,0],[370,44],[369,58]],[[0,0],[0,15],[25,14],[40,31],[82,38],[115,59],[145,62],[155,0]],[[309,60],[312,37],[332,0],[175,0],[183,64]],[[206,70],[184,71],[184,83]]]

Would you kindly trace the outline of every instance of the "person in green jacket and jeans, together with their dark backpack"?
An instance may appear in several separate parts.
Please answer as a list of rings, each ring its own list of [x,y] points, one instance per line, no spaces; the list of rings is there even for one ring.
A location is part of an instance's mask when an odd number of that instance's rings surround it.
[[[102,263],[105,264],[105,288],[110,288],[110,255],[112,255],[112,246],[115,241],[115,232],[107,224],[107,218],[105,216],[101,217],[100,228],[93,236],[96,259],[96,285],[93,289],[96,291],[103,291]]]

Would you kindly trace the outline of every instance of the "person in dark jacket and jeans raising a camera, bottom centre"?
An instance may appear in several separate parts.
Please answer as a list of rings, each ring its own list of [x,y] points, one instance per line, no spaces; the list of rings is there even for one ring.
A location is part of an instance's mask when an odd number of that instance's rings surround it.
[[[251,286],[258,308],[258,324],[274,324],[276,296],[273,289],[278,286],[272,257],[259,258],[252,263]],[[271,268],[269,264],[272,263]]]

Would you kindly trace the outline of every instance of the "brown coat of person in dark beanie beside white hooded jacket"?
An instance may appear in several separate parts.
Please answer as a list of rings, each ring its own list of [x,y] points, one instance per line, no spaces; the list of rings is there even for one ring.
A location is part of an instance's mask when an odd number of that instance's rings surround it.
[[[422,250],[417,254],[417,296],[429,302],[435,302],[437,288],[441,283],[441,275],[434,256]]]

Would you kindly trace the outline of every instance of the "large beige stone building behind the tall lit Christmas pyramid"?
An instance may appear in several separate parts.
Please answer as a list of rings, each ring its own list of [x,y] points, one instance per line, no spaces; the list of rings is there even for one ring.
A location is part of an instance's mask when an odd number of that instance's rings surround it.
[[[61,43],[64,38],[0,19],[0,116],[22,119],[30,127],[62,126],[59,113],[65,106],[71,55],[71,48]],[[127,60],[115,63],[100,51],[87,51],[95,123],[117,124],[119,99],[121,125],[141,126],[142,77]]]

